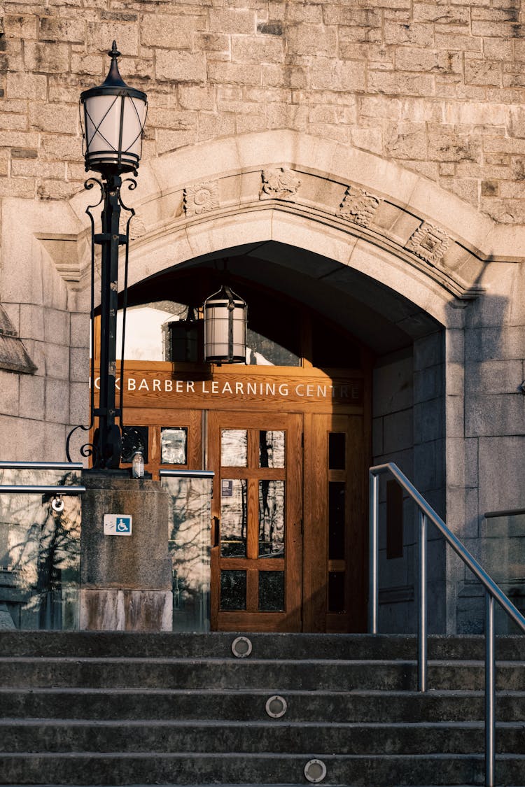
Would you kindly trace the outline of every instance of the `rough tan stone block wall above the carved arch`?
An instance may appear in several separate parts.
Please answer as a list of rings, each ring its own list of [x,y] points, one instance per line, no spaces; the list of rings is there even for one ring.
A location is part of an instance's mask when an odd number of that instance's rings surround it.
[[[497,221],[525,219],[519,0],[3,0],[0,196],[82,185],[79,91],[120,69],[150,100],[144,157],[292,128],[423,173]]]

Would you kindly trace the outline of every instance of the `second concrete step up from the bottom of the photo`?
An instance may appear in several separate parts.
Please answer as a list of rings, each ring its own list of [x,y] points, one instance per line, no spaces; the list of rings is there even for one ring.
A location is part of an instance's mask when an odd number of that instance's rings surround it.
[[[138,719],[1,719],[0,752],[315,752],[332,755],[465,754],[483,751],[482,722],[202,722]],[[497,752],[523,748],[523,722],[497,725]],[[313,756],[313,755],[312,755]]]

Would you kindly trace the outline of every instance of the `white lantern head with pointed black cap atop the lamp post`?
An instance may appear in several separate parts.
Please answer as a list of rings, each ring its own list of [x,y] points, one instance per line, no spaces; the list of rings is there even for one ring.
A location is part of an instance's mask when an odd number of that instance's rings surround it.
[[[86,170],[103,175],[139,167],[147,105],[146,93],[129,87],[120,76],[115,41],[108,54],[111,65],[105,81],[80,94]]]

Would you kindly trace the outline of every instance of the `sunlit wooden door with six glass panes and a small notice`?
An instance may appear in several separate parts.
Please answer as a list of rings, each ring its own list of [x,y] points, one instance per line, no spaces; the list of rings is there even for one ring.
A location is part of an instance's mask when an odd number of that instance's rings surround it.
[[[221,464],[221,438],[224,430],[246,430],[246,467],[231,464],[231,461],[235,460],[235,450],[233,453],[230,450],[227,457],[229,464]],[[260,448],[261,430],[285,433],[283,467],[259,467],[259,464],[263,464],[262,461],[260,462],[260,451],[261,458],[263,457],[263,449]],[[242,439],[239,445],[243,443]],[[262,445],[264,447],[265,444]],[[243,451],[238,452],[238,458],[239,465],[244,464]],[[224,519],[223,538],[215,538],[215,545],[212,548],[213,629],[240,631],[301,629],[301,459],[301,416],[246,412],[209,413],[208,468],[216,473],[212,515],[220,519],[222,514]],[[237,524],[237,529],[239,530],[240,524],[242,532],[244,530],[242,517],[246,515],[244,544],[242,541],[235,541],[235,538],[233,542],[229,539],[225,540],[226,509],[224,509],[223,493],[230,495],[228,482],[235,482],[236,479],[246,479],[246,513],[243,513],[244,508],[240,510]],[[265,482],[267,486],[264,487]],[[283,484],[283,487],[279,486],[280,484]],[[281,493],[284,494],[284,506],[279,499]],[[275,556],[272,556],[272,552],[266,556],[259,554],[268,543],[271,546],[272,544],[279,546],[280,543],[279,539],[266,541],[265,532],[262,534],[261,541],[261,522],[266,521],[261,520],[261,505],[264,511],[263,517],[269,518],[269,531],[275,531],[277,527],[276,532],[279,534],[279,521],[281,515],[283,516],[284,556],[280,552],[276,552]],[[229,519],[228,527],[231,527]],[[231,549],[232,543],[238,544],[244,554],[235,556],[224,554]],[[227,571],[237,571],[242,574],[227,575],[225,573]],[[246,608],[227,608],[229,604],[227,594],[221,602],[223,580],[225,588],[233,587],[229,586],[228,582],[240,583],[235,585],[235,593],[239,588],[243,590],[246,582]],[[283,587],[283,610],[262,611],[261,602],[267,601],[265,593],[268,594],[273,590],[279,596],[281,587]],[[232,593],[232,597],[235,593]],[[239,591],[239,596],[235,597],[234,603],[242,603],[240,599]]]

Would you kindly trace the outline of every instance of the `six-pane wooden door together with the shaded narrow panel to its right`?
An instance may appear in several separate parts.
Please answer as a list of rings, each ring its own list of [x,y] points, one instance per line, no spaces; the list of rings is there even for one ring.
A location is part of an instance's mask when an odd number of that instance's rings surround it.
[[[362,417],[209,412],[206,432],[212,628],[364,630]]]

